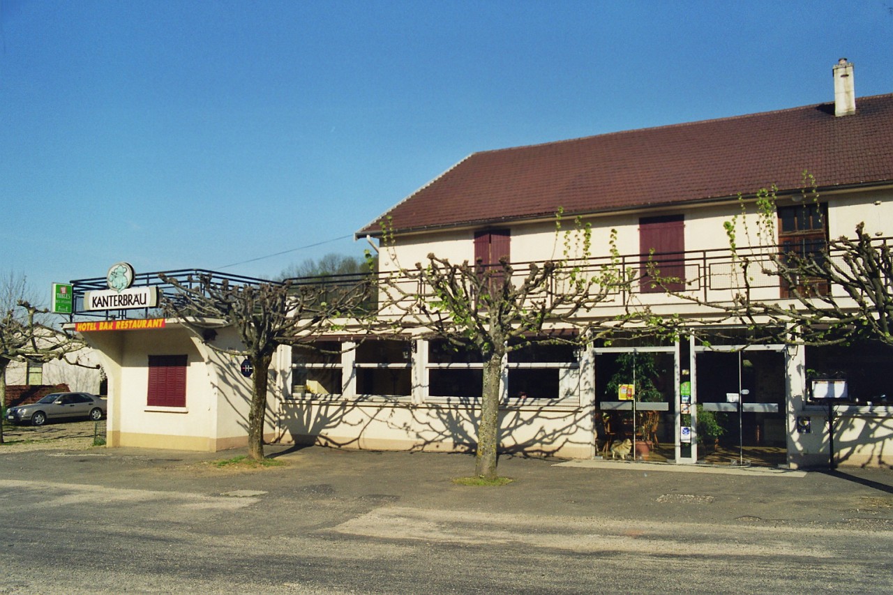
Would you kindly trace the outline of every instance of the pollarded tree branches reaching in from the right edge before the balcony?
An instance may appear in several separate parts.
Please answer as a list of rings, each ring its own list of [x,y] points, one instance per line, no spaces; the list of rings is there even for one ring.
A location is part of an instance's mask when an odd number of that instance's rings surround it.
[[[747,224],[739,226],[738,217],[726,222],[732,256],[741,272],[741,291],[731,306],[712,306],[726,307],[741,322],[783,342],[828,345],[872,339],[893,345],[893,247],[889,239],[872,238],[864,230],[864,222],[856,225],[852,236],[826,239],[822,230],[827,230],[828,215],[816,182],[809,172],[803,172],[803,179],[804,187],[794,205],[780,207],[775,186],[755,193],[755,237]],[[746,221],[744,217],[741,220]],[[818,232],[797,242],[780,241],[777,226],[786,220]],[[739,227],[752,245],[747,256],[739,254]],[[780,297],[754,298],[751,282],[755,274],[778,279]]]

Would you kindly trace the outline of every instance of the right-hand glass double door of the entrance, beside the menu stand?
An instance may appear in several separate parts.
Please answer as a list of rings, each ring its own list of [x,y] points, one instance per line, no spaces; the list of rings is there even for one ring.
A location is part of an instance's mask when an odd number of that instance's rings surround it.
[[[697,459],[715,464],[784,464],[783,348],[733,349],[697,348]]]

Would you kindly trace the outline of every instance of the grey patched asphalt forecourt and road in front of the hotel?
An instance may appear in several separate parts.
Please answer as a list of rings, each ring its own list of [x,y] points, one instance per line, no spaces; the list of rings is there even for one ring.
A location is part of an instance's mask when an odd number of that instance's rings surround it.
[[[267,451],[0,446],[0,592],[893,591],[885,470]]]

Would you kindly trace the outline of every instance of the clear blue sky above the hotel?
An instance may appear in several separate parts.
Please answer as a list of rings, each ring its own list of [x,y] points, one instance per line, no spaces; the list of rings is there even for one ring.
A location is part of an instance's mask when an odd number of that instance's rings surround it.
[[[0,272],[47,299],[121,260],[360,255],[475,151],[831,101],[841,56],[893,92],[893,0],[0,0],[0,24]]]

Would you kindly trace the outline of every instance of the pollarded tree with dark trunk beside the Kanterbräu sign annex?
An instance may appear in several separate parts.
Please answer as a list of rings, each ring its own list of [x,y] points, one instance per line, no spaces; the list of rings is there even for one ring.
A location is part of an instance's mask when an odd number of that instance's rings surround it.
[[[248,455],[263,459],[263,422],[267,407],[267,370],[280,345],[308,344],[338,328],[346,317],[361,318],[369,304],[371,278],[361,275],[338,283],[260,281],[232,285],[199,274],[187,282],[167,275],[162,280],[176,289],[164,298],[165,314],[178,317],[202,336],[207,329],[231,326],[240,348],[208,345],[231,355],[245,356],[254,368],[248,414]]]

